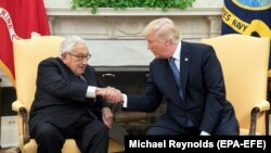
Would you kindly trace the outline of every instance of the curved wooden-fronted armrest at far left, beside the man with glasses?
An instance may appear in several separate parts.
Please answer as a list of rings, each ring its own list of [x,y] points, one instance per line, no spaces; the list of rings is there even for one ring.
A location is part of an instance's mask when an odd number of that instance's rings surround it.
[[[29,142],[29,140],[30,140],[27,110],[26,110],[25,105],[22,102],[20,102],[18,100],[14,101],[12,103],[12,110],[17,112],[18,118],[22,118],[22,119],[18,119],[18,122],[22,122],[18,124],[22,124],[22,126],[23,126],[23,141],[25,144],[25,143]]]

